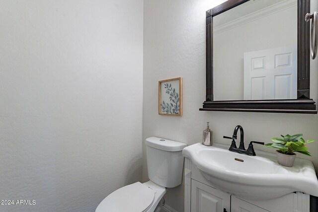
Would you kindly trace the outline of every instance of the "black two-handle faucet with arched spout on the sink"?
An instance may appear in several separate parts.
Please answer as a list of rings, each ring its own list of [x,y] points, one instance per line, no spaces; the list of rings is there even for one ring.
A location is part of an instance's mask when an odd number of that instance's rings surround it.
[[[236,145],[235,140],[238,139],[238,130],[240,132],[240,141],[239,141],[239,148]],[[233,132],[233,136],[231,137],[227,137],[224,136],[224,139],[232,139],[232,143],[231,146],[229,148],[230,151],[234,151],[234,152],[238,152],[240,154],[247,154],[247,155],[252,155],[255,156],[255,151],[254,151],[254,147],[253,147],[253,143],[258,143],[258,144],[262,144],[264,145],[264,142],[259,142],[259,141],[250,141],[247,150],[245,150],[245,146],[244,146],[244,131],[242,126],[238,125],[235,127],[234,132]]]

